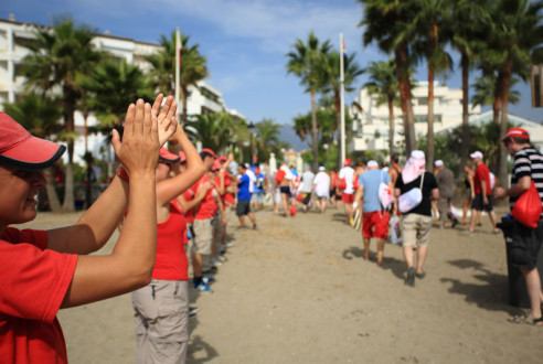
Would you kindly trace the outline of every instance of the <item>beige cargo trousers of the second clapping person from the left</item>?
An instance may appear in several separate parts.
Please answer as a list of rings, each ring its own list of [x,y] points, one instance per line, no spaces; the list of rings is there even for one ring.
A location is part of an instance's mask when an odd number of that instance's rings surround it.
[[[132,292],[136,363],[184,363],[189,341],[189,282],[153,279]]]

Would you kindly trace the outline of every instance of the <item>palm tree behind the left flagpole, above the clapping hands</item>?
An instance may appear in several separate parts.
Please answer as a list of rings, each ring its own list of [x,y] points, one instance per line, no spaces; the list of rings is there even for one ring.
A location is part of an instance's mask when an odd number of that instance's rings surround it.
[[[198,82],[209,76],[206,57],[199,52],[200,44],[189,46],[190,36],[181,34],[181,67],[179,75],[180,96],[182,101],[182,121],[187,122],[187,98],[189,86],[198,87]],[[175,32],[168,39],[160,35],[160,44],[163,49],[147,57],[152,65],[151,75],[159,89],[167,94],[175,93]]]

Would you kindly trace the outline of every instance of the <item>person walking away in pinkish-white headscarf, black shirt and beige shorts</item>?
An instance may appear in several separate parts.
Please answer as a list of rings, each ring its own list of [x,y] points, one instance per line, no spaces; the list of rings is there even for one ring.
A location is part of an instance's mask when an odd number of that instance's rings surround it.
[[[414,150],[405,168],[400,173],[394,193],[398,199],[398,210],[402,212],[401,231],[404,259],[407,265],[405,283],[415,286],[415,278],[426,277],[424,263],[428,254],[429,233],[432,228],[432,200],[439,199],[439,189],[433,173],[425,171],[424,152]],[[419,189],[418,193],[411,191]],[[416,192],[416,191],[415,191]],[[409,199],[411,195],[418,199]],[[402,196],[405,197],[402,199]],[[405,201],[405,203],[404,203]],[[417,248],[417,264],[414,266],[414,248]]]

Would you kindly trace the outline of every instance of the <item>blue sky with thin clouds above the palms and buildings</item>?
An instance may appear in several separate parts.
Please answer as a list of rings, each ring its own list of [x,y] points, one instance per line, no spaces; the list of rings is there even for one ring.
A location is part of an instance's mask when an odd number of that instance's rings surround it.
[[[175,29],[190,35],[189,45],[200,44],[207,58],[206,79],[221,90],[225,104],[248,120],[264,118],[290,125],[299,114],[310,110],[309,94],[295,75],[287,75],[286,54],[297,39],[307,40],[315,31],[321,41],[330,40],[339,51],[340,33],[348,53],[356,53],[364,68],[387,55],[375,45],[362,44],[362,6],[354,0],[18,0],[0,3],[0,18],[12,13],[15,21],[51,25],[51,19],[70,14],[78,23],[100,32],[158,43],[161,34]],[[454,55],[456,58],[458,56]],[[448,76],[449,88],[460,88],[460,72]],[[417,81],[426,79],[424,65]],[[360,76],[355,88],[368,81]],[[510,105],[517,116],[543,121],[543,108],[531,107],[530,85],[519,85],[521,103]],[[349,105],[356,93],[345,94]]]

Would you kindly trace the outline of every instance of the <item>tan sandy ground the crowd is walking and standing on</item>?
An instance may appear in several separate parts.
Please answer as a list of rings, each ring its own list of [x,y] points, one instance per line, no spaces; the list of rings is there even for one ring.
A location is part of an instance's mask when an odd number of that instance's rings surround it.
[[[402,248],[387,244],[380,268],[372,242],[365,261],[361,233],[340,210],[256,216],[256,232],[231,218],[234,246],[214,293],[191,290],[200,312],[190,363],[541,363],[543,328],[507,322],[519,308],[509,304],[504,240],[488,217],[472,237],[459,234],[465,226],[433,228],[427,276],[412,288]],[[76,218],[45,213],[30,225]],[[58,319],[71,363],[134,363],[129,295]]]

